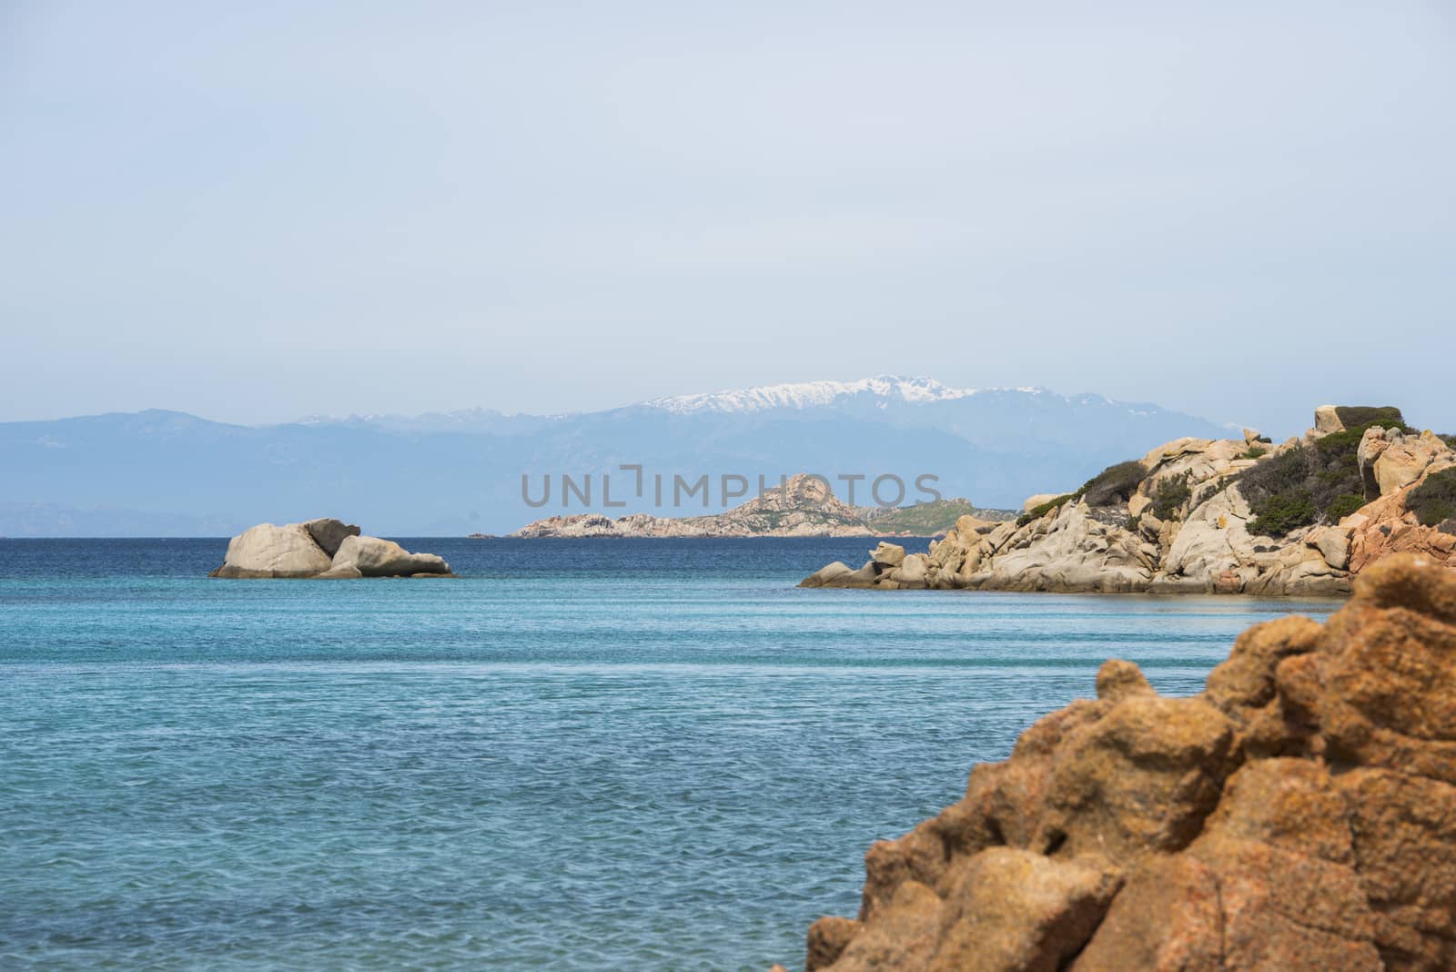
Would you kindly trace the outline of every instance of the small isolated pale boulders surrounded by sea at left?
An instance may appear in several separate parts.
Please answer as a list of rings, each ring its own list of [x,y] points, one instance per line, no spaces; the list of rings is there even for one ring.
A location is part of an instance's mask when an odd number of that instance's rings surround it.
[[[447,578],[450,565],[432,553],[409,553],[393,540],[360,535],[341,519],[258,524],[233,537],[211,578]]]

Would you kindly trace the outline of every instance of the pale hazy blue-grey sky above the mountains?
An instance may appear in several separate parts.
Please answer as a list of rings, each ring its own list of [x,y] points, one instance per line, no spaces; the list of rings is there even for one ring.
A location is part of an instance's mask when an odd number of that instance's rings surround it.
[[[0,421],[897,373],[1456,431],[1456,4],[0,4]]]

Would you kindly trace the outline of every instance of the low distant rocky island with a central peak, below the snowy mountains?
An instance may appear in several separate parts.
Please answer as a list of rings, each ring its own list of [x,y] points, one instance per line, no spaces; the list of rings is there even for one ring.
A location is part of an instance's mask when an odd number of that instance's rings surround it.
[[[968,499],[938,499],[914,506],[852,506],[834,496],[823,479],[791,477],[741,506],[705,517],[604,517],[575,514],[537,519],[513,537],[935,537],[970,517],[994,527],[1016,518],[1015,509],[983,509]]]

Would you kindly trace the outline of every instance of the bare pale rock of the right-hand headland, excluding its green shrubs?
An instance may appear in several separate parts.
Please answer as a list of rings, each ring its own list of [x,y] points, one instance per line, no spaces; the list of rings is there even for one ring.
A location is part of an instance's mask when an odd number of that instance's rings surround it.
[[[1456,466],[1431,432],[1369,429],[1357,455],[1373,502],[1340,524],[1255,535],[1238,474],[1344,428],[1332,406],[1321,406],[1303,439],[1277,448],[1251,438],[1252,429],[1242,439],[1175,439],[1140,460],[1143,479],[1125,503],[1093,505],[1089,493],[1034,517],[1064,495],[1032,496],[1018,522],[962,518],[923,565],[910,553],[906,567],[877,549],[859,570],[820,570],[802,586],[1344,597],[1360,570],[1399,550],[1456,567],[1456,535],[1423,527],[1399,499]]]

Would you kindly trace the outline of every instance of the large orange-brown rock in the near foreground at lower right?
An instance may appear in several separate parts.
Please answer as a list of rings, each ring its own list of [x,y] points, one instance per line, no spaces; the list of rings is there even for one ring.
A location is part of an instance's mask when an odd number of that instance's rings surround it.
[[[865,856],[808,972],[1456,968],[1456,575],[1392,556],[1191,698],[1104,664]]]

